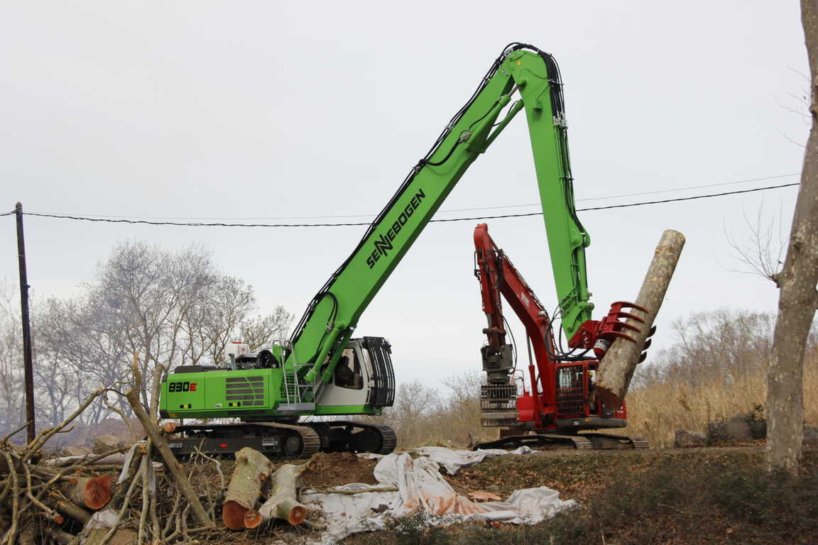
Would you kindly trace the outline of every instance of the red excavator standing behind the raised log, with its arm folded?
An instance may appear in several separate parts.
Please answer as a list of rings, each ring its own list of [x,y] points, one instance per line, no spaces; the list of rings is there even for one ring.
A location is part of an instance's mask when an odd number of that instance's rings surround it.
[[[482,422],[485,427],[501,427],[499,440],[477,447],[648,448],[648,442],[641,437],[589,432],[627,426],[624,403],[618,407],[608,407],[600,401],[591,400],[597,365],[609,342],[597,343],[597,339],[587,338],[584,346],[593,348],[585,348],[579,353],[575,350],[562,351],[555,343],[552,320],[545,307],[506,253],[497,248],[488,235],[486,224],[474,229],[474,248],[474,275],[480,282],[483,312],[488,319],[488,327],[483,329],[488,343],[481,350],[483,370],[488,376],[481,390]],[[514,336],[503,316],[501,296],[505,297],[524,324],[528,373],[517,369],[517,350],[512,344]],[[618,319],[636,318],[622,310],[627,308],[642,310],[627,302],[616,302],[611,306],[608,317],[617,324],[615,336],[628,336],[629,326]],[[606,329],[597,325],[593,330]],[[653,333],[652,330],[650,334]],[[506,335],[511,337],[512,343],[506,342]],[[610,328],[605,337],[611,337]],[[645,342],[645,349],[649,344],[649,340]],[[510,380],[492,381],[494,369],[504,368],[509,362],[513,362],[513,370],[505,376]]]

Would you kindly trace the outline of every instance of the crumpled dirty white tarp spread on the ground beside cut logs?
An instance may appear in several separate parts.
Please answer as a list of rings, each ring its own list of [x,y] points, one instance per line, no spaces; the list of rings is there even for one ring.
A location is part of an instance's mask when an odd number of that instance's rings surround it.
[[[449,452],[471,454],[470,451]],[[439,451],[433,453],[437,458],[441,458],[443,454]],[[454,455],[450,454],[445,454],[443,458],[449,462],[455,459]],[[462,458],[461,461],[466,459]],[[573,500],[560,500],[560,493],[546,486],[515,490],[505,502],[473,502],[457,494],[443,479],[438,471],[437,461],[427,456],[412,459],[409,453],[393,453],[380,458],[375,466],[375,479],[378,480],[378,485],[353,483],[336,489],[366,490],[396,487],[398,491],[364,492],[353,495],[310,494],[309,491],[304,491],[301,501],[320,504],[321,511],[325,513],[324,522],[327,528],[321,534],[321,541],[318,543],[330,545],[349,534],[382,529],[387,516],[410,516],[416,512],[423,512],[429,515],[430,524],[438,525],[464,520],[480,522],[502,520],[513,524],[537,524],[553,516],[560,509],[574,505]]]

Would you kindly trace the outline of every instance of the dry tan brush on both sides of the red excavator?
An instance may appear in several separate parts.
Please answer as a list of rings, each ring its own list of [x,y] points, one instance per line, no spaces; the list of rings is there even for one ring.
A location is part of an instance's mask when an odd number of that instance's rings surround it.
[[[775,316],[714,310],[676,321],[671,346],[649,354],[627,396],[627,435],[654,447],[671,447],[677,429],[707,431],[708,422],[748,414],[766,404],[766,366]],[[664,333],[667,335],[668,333]],[[398,385],[395,406],[380,417],[398,433],[398,448],[438,444],[463,448],[471,439],[497,438],[480,426],[481,374],[447,378],[443,389],[422,383]],[[818,334],[807,342],[804,363],[806,422],[818,425]]]

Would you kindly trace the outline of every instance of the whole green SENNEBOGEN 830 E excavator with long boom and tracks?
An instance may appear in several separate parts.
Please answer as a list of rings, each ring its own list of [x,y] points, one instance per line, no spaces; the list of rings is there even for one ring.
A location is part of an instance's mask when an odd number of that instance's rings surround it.
[[[353,337],[358,319],[466,169],[520,111],[528,120],[569,346],[589,351],[625,335],[616,312],[591,319],[585,264],[590,239],[574,208],[560,71],[548,53],[512,43],[312,298],[286,342],[234,354],[223,365],[177,367],[163,378],[160,417],[182,420],[169,440],[171,448],[185,455],[195,449],[233,453],[249,446],[270,458],[317,451],[391,452],[396,437],[390,427],[329,418],[378,415],[393,404],[389,342]],[[492,362],[486,369],[484,361],[489,382],[513,385],[507,358]],[[506,392],[509,398],[514,393]],[[218,423],[226,419],[233,422]]]

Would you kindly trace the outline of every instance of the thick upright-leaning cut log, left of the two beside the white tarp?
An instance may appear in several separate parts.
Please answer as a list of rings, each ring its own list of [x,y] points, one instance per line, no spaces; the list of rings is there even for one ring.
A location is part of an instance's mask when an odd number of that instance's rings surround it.
[[[245,529],[245,513],[256,507],[262,482],[271,469],[270,461],[258,450],[245,447],[236,453],[236,467],[222,505],[222,521],[227,528]]]

